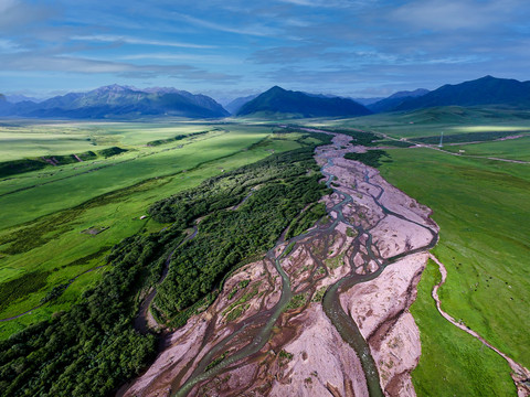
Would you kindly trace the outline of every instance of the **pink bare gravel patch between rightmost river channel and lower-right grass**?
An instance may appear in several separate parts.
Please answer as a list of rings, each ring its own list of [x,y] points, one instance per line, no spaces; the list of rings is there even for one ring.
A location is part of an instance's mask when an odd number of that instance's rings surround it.
[[[409,313],[427,255],[392,264],[374,280],[359,283],[340,302],[368,340],[381,386],[391,396],[414,395],[410,373],[421,355],[420,331]]]

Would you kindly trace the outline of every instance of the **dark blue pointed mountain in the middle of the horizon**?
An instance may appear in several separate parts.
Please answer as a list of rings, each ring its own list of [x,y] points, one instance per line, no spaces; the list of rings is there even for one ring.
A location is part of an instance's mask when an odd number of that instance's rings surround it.
[[[364,116],[364,106],[346,98],[307,95],[274,86],[246,103],[237,116],[288,114],[292,117]]]

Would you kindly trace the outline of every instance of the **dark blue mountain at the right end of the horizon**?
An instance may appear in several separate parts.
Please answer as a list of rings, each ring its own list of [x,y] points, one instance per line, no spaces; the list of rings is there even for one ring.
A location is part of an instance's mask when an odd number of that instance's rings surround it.
[[[405,99],[393,110],[412,110],[435,106],[501,105],[530,107],[530,82],[485,76],[456,85],[444,85],[418,98]]]

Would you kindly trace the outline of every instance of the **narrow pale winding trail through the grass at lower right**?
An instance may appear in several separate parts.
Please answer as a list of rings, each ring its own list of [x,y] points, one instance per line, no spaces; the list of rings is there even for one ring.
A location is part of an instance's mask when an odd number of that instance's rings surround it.
[[[510,358],[508,355],[499,351],[497,347],[488,343],[483,336],[480,336],[477,332],[473,331],[468,326],[466,326],[463,322],[457,322],[453,316],[451,316],[448,313],[446,313],[441,305],[439,297],[438,297],[438,289],[445,283],[447,280],[447,269],[445,268],[444,264],[442,264],[438,258],[436,258],[433,254],[430,254],[428,257],[436,264],[438,265],[439,272],[442,275],[442,280],[433,287],[433,299],[436,302],[436,309],[438,309],[439,314],[451,322],[453,325],[457,326],[464,332],[467,332],[469,335],[476,337],[484,345],[492,350],[495,353],[500,355],[502,358],[506,360],[510,368],[513,371],[511,374],[511,377],[513,378],[513,383],[517,386],[518,394],[519,396],[530,396],[530,371],[528,371],[524,366],[521,364],[515,362],[512,358]]]

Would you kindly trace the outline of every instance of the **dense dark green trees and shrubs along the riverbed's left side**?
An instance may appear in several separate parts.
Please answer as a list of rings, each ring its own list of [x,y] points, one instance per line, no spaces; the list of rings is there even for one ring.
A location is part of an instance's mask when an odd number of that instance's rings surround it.
[[[104,396],[138,374],[157,351],[157,337],[132,326],[141,291],[157,282],[169,251],[198,217],[204,216],[197,238],[176,253],[156,299],[159,318],[170,325],[186,322],[214,296],[230,269],[264,254],[327,192],[312,160],[315,137],[309,143],[307,136],[298,138],[305,148],[273,154],[152,205],[151,216],[169,226],[124,239],[110,250],[100,281],[70,310],[0,342],[3,393]],[[230,210],[256,186],[240,208]],[[312,221],[319,216],[310,214]]]

